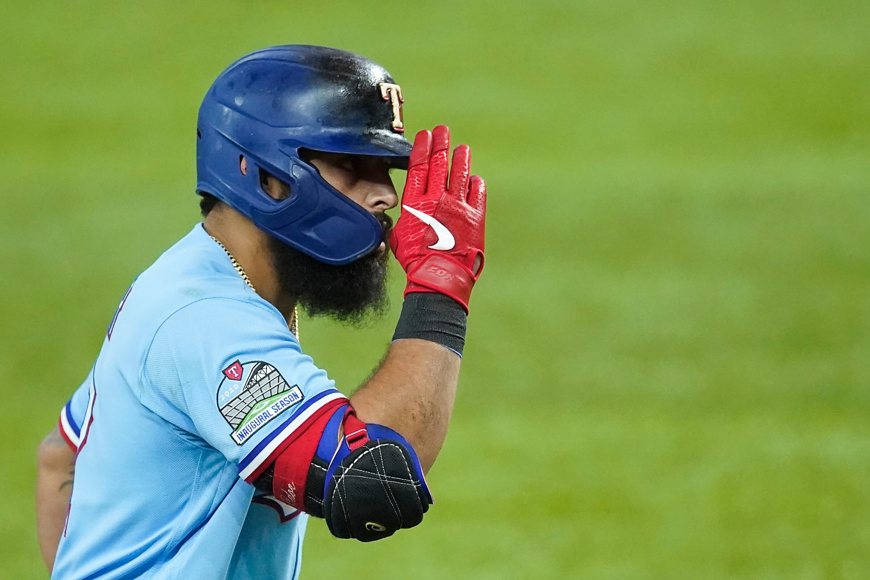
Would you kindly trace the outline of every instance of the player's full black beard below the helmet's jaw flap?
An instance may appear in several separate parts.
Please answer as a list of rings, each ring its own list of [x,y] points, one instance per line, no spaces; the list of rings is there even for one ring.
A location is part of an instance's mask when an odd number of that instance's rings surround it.
[[[387,239],[390,224],[378,221]],[[270,246],[282,293],[296,298],[309,315],[359,326],[386,314],[389,251],[376,248],[350,264],[331,266],[275,238]]]

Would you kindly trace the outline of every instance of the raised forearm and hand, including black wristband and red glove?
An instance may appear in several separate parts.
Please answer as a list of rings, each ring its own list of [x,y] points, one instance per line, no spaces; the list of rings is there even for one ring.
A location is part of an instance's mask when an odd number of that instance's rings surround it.
[[[449,153],[445,125],[414,138],[402,212],[390,234],[408,278],[405,303],[385,361],[351,397],[364,422],[405,436],[424,471],[447,435],[468,301],[484,264],[486,187],[470,175],[467,145],[454,150],[448,171]]]

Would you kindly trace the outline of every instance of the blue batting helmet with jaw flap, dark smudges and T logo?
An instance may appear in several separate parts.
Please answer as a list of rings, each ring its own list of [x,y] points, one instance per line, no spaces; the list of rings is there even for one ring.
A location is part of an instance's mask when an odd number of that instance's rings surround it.
[[[405,168],[402,100],[384,67],[352,52],[304,44],[253,52],[220,74],[199,107],[197,191],[317,260],[347,264],[377,247],[383,230],[299,150],[394,158]],[[261,169],[290,185],[288,199],[263,191]]]

